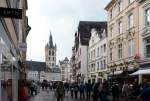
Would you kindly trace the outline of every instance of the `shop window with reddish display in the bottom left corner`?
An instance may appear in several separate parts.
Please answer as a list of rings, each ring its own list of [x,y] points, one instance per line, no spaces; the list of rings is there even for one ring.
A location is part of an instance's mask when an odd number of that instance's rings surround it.
[[[13,99],[12,96],[12,64],[2,55],[1,64],[1,99],[2,101],[9,101]]]

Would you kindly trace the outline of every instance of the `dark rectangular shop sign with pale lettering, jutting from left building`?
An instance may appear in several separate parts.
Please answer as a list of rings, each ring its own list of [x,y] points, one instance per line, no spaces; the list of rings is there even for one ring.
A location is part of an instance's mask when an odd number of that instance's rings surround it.
[[[22,9],[0,7],[0,17],[22,19]]]

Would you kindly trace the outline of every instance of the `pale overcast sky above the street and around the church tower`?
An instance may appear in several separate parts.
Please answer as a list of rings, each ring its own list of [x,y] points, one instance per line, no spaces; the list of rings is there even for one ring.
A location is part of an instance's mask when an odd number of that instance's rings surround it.
[[[50,31],[57,44],[57,61],[71,57],[79,21],[107,20],[104,7],[110,0],[28,0],[27,59],[45,61]]]

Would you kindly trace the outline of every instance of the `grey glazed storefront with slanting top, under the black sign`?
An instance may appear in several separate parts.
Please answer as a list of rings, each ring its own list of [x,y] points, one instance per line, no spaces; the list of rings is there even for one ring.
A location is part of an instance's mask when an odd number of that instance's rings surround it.
[[[18,101],[17,54],[0,21],[0,101]]]

